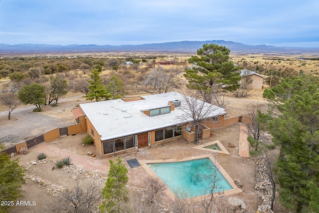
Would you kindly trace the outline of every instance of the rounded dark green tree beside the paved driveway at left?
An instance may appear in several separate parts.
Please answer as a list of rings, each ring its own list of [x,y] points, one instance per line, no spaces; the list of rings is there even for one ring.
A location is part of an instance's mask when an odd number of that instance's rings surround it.
[[[44,86],[37,83],[24,85],[18,93],[18,98],[24,105],[34,104],[39,110],[45,104],[45,97]]]

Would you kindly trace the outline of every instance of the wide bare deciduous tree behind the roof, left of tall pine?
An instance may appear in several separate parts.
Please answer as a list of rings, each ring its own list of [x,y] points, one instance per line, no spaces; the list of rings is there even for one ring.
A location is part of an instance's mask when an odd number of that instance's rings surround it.
[[[182,86],[182,80],[177,76],[175,69],[164,70],[160,67],[155,68],[145,76],[141,90],[151,94],[166,93]]]

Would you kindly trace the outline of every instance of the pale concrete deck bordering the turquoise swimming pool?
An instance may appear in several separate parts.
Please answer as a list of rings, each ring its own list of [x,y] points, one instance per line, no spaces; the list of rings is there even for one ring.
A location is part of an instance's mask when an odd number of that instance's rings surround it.
[[[207,144],[205,145],[207,146]],[[219,172],[224,176],[224,178],[228,181],[228,183],[231,185],[233,189],[224,191],[222,193],[223,196],[228,196],[228,195],[233,195],[237,193],[242,193],[242,191],[236,186],[234,180],[227,174],[227,172],[221,167],[219,162],[216,160],[216,158],[213,155],[201,155],[201,156],[195,156],[195,157],[188,157],[184,158],[182,160],[174,160],[174,159],[169,159],[169,160],[140,160],[139,163],[141,166],[146,170],[146,172],[154,178],[158,178],[158,176],[153,172],[153,170],[147,165],[147,164],[154,164],[154,163],[176,163],[176,162],[183,162],[183,161],[191,161],[191,160],[196,160],[196,159],[203,159],[203,158],[209,158],[211,162],[216,166],[216,168],[219,170]],[[172,191],[170,191],[168,188],[166,189],[166,194],[169,196],[171,199],[174,199],[175,195]],[[203,195],[205,196],[205,195]],[[221,196],[220,193],[215,193],[214,196]],[[195,199],[201,200],[202,196],[198,196]]]

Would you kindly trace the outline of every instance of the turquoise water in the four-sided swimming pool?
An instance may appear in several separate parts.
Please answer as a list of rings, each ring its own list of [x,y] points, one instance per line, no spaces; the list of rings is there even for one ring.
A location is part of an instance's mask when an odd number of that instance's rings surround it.
[[[176,196],[187,198],[233,189],[209,158],[177,163],[148,164]],[[183,196],[185,196],[183,195]]]

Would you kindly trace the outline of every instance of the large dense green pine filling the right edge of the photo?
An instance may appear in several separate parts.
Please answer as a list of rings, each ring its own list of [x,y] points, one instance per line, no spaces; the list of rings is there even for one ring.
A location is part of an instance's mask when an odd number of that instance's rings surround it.
[[[266,89],[264,97],[280,111],[269,127],[274,143],[280,146],[277,175],[281,203],[295,212],[309,212],[319,205],[313,200],[318,194],[310,188],[312,184],[319,188],[319,78],[299,75],[282,79]]]

